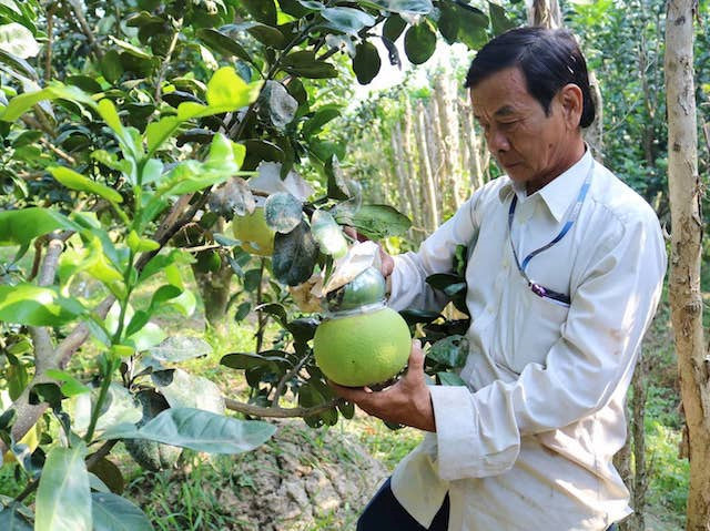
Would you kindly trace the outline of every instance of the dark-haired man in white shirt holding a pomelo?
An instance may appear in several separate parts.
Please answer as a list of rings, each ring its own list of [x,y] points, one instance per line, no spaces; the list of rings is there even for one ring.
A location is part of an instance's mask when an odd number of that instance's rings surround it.
[[[595,116],[571,34],[523,28],[467,75],[506,173],[420,246],[385,261],[390,306],[438,309],[425,284],[473,247],[466,387],[427,386],[415,341],[390,388],[336,387],[379,418],[426,430],[358,530],[602,531],[631,512],[612,464],[623,401],[666,270],[658,219],[591,157]],[[388,273],[388,270],[385,270]]]

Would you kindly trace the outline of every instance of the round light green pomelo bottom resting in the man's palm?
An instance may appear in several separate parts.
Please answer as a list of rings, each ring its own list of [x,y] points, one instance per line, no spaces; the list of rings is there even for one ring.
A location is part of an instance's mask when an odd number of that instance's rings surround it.
[[[324,320],[313,338],[317,366],[346,387],[388,380],[407,364],[410,350],[409,328],[392,308]]]

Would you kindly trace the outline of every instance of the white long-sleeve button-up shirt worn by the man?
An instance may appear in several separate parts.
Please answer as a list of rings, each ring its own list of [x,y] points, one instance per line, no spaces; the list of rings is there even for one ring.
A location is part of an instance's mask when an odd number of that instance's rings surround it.
[[[589,171],[571,229],[526,269],[568,294],[564,305],[532,293],[511,242],[520,261],[548,244]],[[666,272],[656,214],[589,150],[530,196],[497,178],[417,253],[395,257],[389,305],[439,309],[425,278],[452,269],[458,244],[475,246],[466,387],[430,388],[436,433],[393,473],[395,497],[428,527],[448,491],[449,531],[605,530],[631,512],[611,459],[626,440],[625,397]]]

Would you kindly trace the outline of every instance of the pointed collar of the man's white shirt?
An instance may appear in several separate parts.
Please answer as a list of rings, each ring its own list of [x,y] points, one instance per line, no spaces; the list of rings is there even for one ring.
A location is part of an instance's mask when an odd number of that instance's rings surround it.
[[[535,192],[530,197],[539,195],[550,211],[550,214],[552,214],[552,217],[559,223],[569,208],[569,205],[575,201],[577,194],[579,194],[579,188],[587,176],[591,163],[591,150],[589,146],[586,146],[585,154],[579,161]],[[510,180],[500,188],[498,197],[501,202],[505,202],[511,193],[518,193],[518,195],[525,197],[524,188],[519,188],[516,186],[516,183]]]

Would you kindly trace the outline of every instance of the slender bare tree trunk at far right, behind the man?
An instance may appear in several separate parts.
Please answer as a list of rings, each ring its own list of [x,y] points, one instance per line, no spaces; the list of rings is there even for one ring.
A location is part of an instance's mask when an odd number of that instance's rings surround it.
[[[710,367],[702,329],[701,184],[693,83],[693,0],[670,0],[666,17],[668,187],[671,214],[669,299],[688,427],[688,531],[710,530]]]

